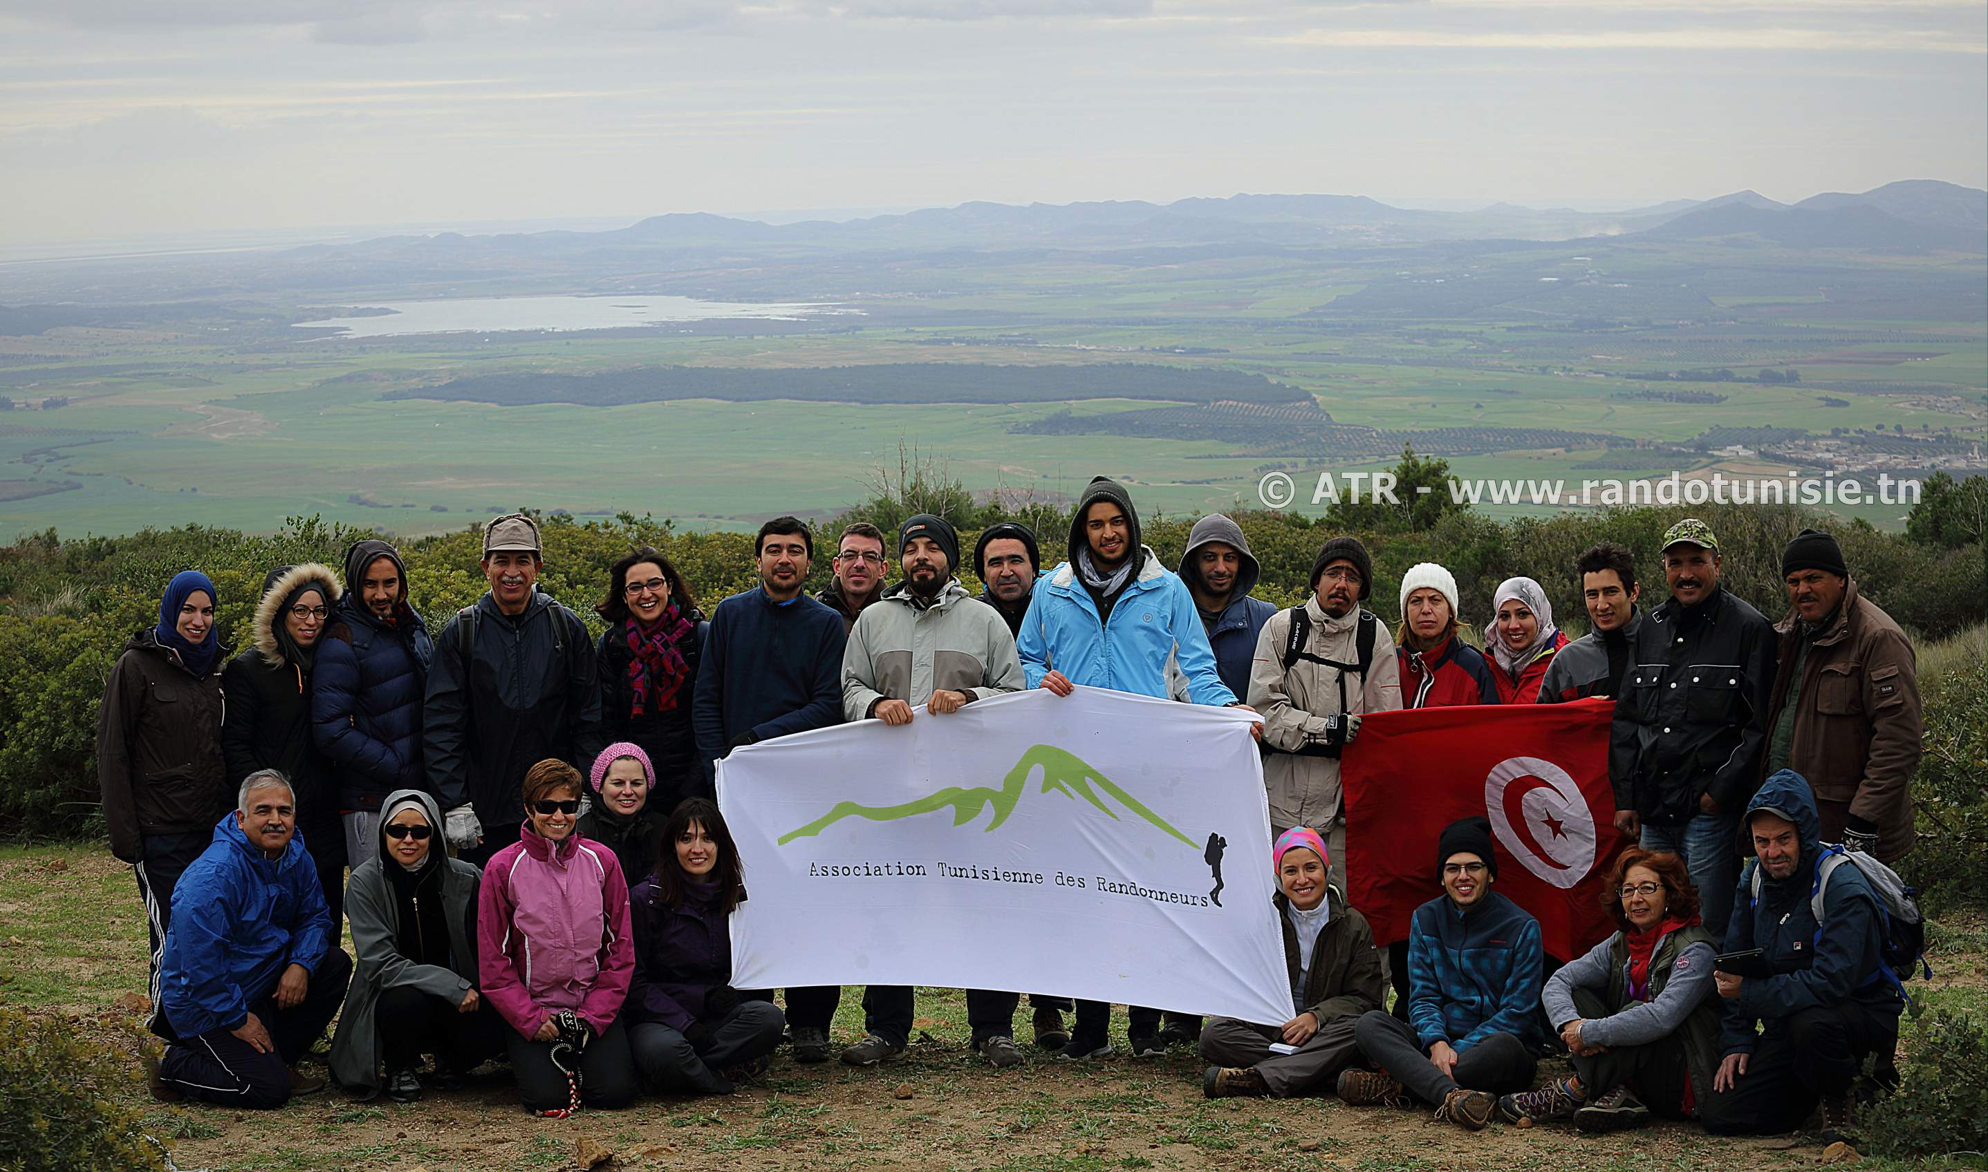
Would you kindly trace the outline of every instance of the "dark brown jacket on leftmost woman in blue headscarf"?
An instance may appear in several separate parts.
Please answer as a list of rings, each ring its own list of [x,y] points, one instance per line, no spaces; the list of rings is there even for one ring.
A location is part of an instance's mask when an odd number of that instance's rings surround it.
[[[235,803],[221,751],[225,654],[195,673],[143,628],[111,667],[97,705],[97,793],[123,862],[145,856],[145,834],[191,834]]]

